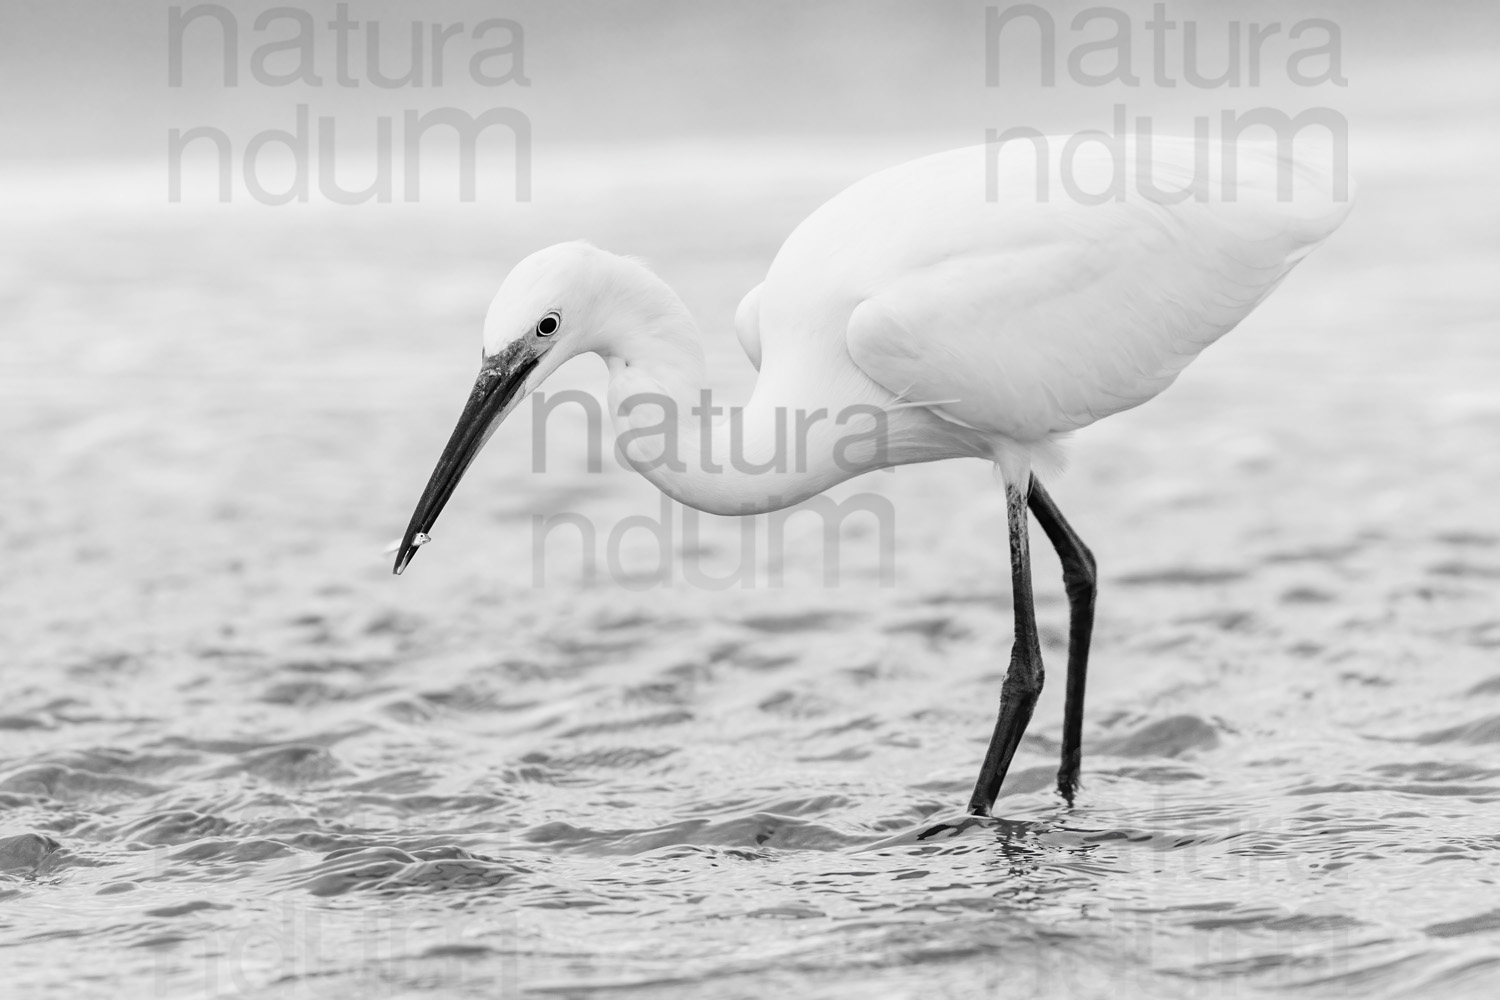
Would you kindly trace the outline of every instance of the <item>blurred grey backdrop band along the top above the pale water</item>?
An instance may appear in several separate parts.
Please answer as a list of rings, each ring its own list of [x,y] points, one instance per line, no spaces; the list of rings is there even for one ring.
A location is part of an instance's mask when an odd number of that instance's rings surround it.
[[[214,126],[237,150],[260,129],[292,126],[294,108],[333,115],[340,148],[370,142],[378,115],[405,109],[489,106],[524,111],[538,145],[548,142],[652,142],[674,136],[868,136],[948,133],[982,141],[986,127],[1032,124],[1071,130],[1107,126],[1113,102],[1131,114],[1158,115],[1160,130],[1186,130],[1191,111],[1256,105],[1298,111],[1332,105],[1358,127],[1360,118],[1410,117],[1430,123],[1432,94],[1455,118],[1494,121],[1500,75],[1494,51],[1500,12],[1492,0],[1396,3],[1172,3],[1168,15],[1191,19],[1208,70],[1224,66],[1227,21],[1280,21],[1284,30],[1262,52],[1258,87],[1154,85],[1150,3],[1112,4],[1132,28],[1140,87],[1086,87],[1066,78],[1066,54],[1107,34],[1106,22],[1071,30],[1086,3],[1046,4],[1058,22],[1059,82],[1038,82],[1035,33],[1008,33],[1000,85],[986,87],[982,0],[916,3],[891,0],[438,0],[350,4],[350,16],[381,24],[382,63],[399,75],[408,64],[411,21],[464,22],[510,18],[524,27],[524,73],[530,85],[480,87],[468,58],[494,40],[454,36],[447,76],[432,85],[382,90],[368,81],[334,81],[332,1],[300,4],[316,21],[322,87],[267,87],[249,72],[250,54],[291,34],[290,21],[262,31],[255,18],[273,3],[226,0],[240,39],[240,85],[222,81],[218,28],[194,24],[186,36],[183,85],[168,85],[168,12],[158,0],[6,0],[0,6],[0,160],[160,160],[172,127]],[[1296,87],[1286,37],[1296,21],[1323,16],[1341,28],[1347,87]],[[1182,30],[1168,36],[1168,67],[1180,78]],[[363,76],[363,30],[354,36],[351,67]],[[492,36],[500,39],[501,36]],[[1311,37],[1311,36],[1308,36]],[[430,34],[424,46],[430,45]],[[1244,42],[1242,42],[1244,45]],[[1102,61],[1101,61],[1102,60]],[[270,63],[286,69],[282,54]],[[1104,67],[1106,57],[1089,66]],[[506,60],[492,63],[506,67]],[[398,135],[399,142],[399,135]]]

